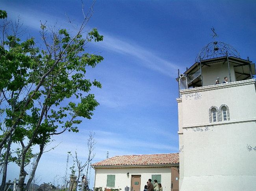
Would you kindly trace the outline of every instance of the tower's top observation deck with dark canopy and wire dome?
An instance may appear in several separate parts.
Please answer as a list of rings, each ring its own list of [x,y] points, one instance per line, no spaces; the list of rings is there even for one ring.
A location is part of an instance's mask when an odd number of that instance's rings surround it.
[[[255,63],[240,58],[239,53],[231,45],[223,42],[211,42],[198,53],[195,64],[187,68],[178,78],[180,90],[194,87],[203,87],[215,84],[219,80],[221,84],[224,77],[229,82],[249,80],[256,75]]]

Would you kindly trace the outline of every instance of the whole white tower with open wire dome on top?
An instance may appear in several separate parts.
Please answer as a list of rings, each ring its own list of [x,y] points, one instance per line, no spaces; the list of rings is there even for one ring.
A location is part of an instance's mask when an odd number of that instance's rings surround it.
[[[256,191],[253,75],[249,58],[217,41],[179,74],[180,191]]]

